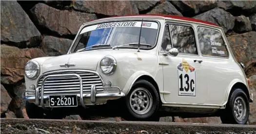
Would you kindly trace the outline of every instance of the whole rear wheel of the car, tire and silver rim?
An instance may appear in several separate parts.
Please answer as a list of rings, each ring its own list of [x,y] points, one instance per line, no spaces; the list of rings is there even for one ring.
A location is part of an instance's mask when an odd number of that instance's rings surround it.
[[[223,124],[246,124],[250,113],[249,100],[242,89],[236,88],[220,116]]]

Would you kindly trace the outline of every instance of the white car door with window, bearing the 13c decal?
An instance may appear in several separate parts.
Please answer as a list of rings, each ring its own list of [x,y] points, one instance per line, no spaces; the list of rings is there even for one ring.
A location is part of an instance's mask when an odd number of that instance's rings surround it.
[[[163,67],[163,96],[166,102],[202,104],[206,101],[207,81],[195,39],[194,29],[190,25],[165,25],[159,57]],[[176,57],[163,55],[171,48],[179,51]]]

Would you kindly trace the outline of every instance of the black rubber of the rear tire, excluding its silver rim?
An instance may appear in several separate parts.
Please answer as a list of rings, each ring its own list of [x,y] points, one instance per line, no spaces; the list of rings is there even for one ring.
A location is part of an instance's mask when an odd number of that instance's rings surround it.
[[[234,103],[236,98],[242,98],[245,102],[246,112],[242,120],[236,118]],[[236,88],[230,93],[226,108],[221,112],[220,119],[223,124],[246,124],[250,113],[249,99],[242,89]]]

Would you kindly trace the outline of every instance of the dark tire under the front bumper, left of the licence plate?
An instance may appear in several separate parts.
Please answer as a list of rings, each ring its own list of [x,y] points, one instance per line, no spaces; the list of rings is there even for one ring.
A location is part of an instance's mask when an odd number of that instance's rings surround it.
[[[37,106],[35,103],[29,103],[26,101],[25,104],[26,112],[29,118],[43,118],[44,110]]]

